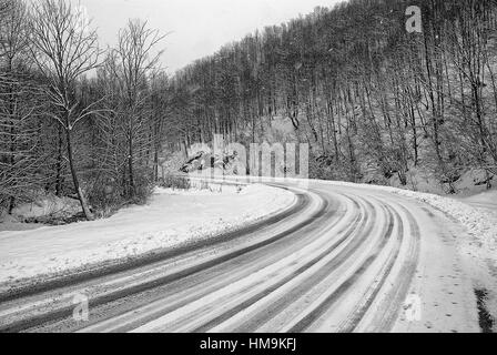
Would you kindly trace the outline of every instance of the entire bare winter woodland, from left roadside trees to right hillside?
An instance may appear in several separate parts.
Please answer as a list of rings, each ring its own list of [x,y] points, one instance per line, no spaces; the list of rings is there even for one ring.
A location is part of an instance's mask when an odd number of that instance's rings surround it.
[[[422,29],[409,33],[416,4]],[[164,38],[144,21],[123,23],[116,44],[102,48],[69,1],[0,0],[0,207],[55,194],[91,220],[145,201],[168,154],[214,134],[308,143],[311,178],[417,189],[413,174],[423,172],[454,193],[479,171],[474,183],[490,187],[496,9],[495,0],[353,0],[168,78]],[[276,124],[286,129],[268,134]]]

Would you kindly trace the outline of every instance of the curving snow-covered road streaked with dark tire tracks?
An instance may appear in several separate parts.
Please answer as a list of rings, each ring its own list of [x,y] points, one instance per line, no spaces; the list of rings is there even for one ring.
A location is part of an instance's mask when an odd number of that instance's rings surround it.
[[[375,189],[285,186],[300,196],[285,215],[176,255],[4,298],[0,329],[479,332],[456,250],[465,232],[455,222]],[[88,322],[72,320],[74,295],[89,297]]]

